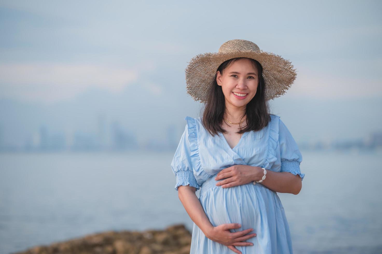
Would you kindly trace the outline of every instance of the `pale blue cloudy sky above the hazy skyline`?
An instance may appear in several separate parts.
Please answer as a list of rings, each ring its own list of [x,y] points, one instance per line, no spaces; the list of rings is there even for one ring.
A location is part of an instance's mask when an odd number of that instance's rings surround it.
[[[0,1],[0,130],[22,145],[41,125],[97,131],[97,117],[164,139],[201,105],[185,68],[231,39],[292,62],[272,100],[296,141],[382,131],[380,1]]]

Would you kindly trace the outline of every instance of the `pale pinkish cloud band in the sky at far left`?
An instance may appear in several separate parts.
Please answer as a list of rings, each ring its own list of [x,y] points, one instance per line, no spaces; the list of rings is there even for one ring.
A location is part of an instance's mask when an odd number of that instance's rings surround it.
[[[0,94],[27,101],[53,102],[70,99],[92,87],[120,92],[138,79],[138,68],[65,63],[1,64]]]

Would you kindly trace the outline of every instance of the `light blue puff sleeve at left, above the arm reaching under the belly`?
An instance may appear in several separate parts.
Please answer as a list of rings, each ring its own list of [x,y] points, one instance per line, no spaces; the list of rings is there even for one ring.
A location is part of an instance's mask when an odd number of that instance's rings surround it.
[[[188,125],[185,127],[178,148],[175,151],[175,155],[171,162],[171,168],[176,176],[175,190],[178,190],[179,186],[192,186],[196,189],[200,189],[196,182],[194,171],[190,157],[190,143],[188,139]]]

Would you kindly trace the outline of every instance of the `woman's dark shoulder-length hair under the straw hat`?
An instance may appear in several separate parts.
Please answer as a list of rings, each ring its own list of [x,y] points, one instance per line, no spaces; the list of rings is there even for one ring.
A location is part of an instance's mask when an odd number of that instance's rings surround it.
[[[232,58],[223,62],[217,71],[220,71],[220,73],[223,74],[223,71],[225,68],[227,68],[227,66],[240,58],[243,57]],[[264,97],[265,82],[262,76],[262,66],[258,61],[252,58],[248,59],[251,60],[254,68],[257,69],[257,73],[259,74],[259,84],[257,85],[255,96],[246,105],[248,125],[245,125],[243,128],[241,128],[237,132],[238,134],[245,133],[247,131],[259,131],[267,126],[270,121],[269,104]],[[215,74],[214,82],[212,83],[211,92],[209,94],[209,99],[207,100],[204,108],[202,108],[201,114],[202,124],[212,136],[215,136],[215,134],[218,135],[219,132],[227,133],[227,131],[225,131],[222,126],[220,126],[223,121],[225,110],[225,97],[222,91],[222,87],[217,84]]]

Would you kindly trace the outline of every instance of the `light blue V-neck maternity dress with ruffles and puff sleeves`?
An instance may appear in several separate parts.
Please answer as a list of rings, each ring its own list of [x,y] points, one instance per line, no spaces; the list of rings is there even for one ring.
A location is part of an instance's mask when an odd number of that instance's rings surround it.
[[[300,171],[302,155],[280,116],[260,131],[249,131],[231,149],[222,133],[212,137],[200,118],[185,117],[185,131],[171,162],[176,176],[175,189],[188,185],[200,189],[199,201],[213,226],[240,223],[237,232],[253,228],[257,236],[248,239],[253,246],[235,246],[243,254],[293,253],[288,222],[283,205],[275,191],[253,182],[222,188],[214,178],[220,170],[233,165],[263,167],[293,175]],[[219,180],[221,181],[221,180]],[[234,253],[227,246],[207,238],[194,223],[191,254]]]

